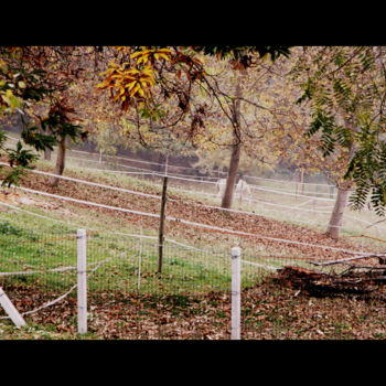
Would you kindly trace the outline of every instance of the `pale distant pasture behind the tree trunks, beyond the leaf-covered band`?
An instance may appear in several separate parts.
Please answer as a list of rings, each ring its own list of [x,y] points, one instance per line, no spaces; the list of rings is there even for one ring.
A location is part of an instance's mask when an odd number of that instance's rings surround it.
[[[78,153],[76,156],[77,160],[69,160],[67,164],[68,171],[74,172],[73,175],[77,175],[81,179],[83,176],[85,179],[92,178],[93,180],[99,179],[106,184],[161,194],[162,176],[160,175],[119,174],[99,171],[100,169],[107,170],[108,168],[119,170],[119,167],[117,164],[114,165],[114,163],[95,163],[95,160],[93,163],[87,163],[87,160],[79,161],[81,157]],[[52,168],[52,162],[39,161],[37,168],[49,170]],[[84,167],[89,169],[84,170]],[[124,168],[120,168],[120,170],[124,170]],[[127,171],[127,169],[124,171]],[[325,189],[330,191],[330,187],[304,185],[305,191],[300,192],[300,186],[297,186],[293,182],[288,182],[288,185],[285,185],[282,182],[266,179],[258,182],[255,181],[255,183],[257,189],[251,189],[251,200],[235,200],[233,210],[249,212],[278,222],[303,226],[320,233],[326,229],[333,210],[334,199],[331,199],[330,193],[328,193],[329,195],[315,195],[312,193],[312,189],[318,189],[319,191]],[[264,190],[258,190],[259,187]],[[214,183],[174,180],[170,178],[168,193],[170,197],[200,203],[202,205],[219,206],[221,204],[221,199],[216,194]],[[351,237],[351,242],[358,246],[380,250],[385,242],[377,240],[376,238],[383,239],[385,235],[386,223],[382,222],[382,219],[367,207],[362,211],[352,211],[349,206],[344,214],[341,236],[343,238]],[[355,238],[361,235],[373,238]]]

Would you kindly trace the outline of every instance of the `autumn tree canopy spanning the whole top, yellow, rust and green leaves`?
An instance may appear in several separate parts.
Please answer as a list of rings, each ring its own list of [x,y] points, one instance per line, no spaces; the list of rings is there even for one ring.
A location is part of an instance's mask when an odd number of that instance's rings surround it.
[[[280,69],[286,61],[294,62],[291,71]],[[286,85],[272,83],[270,72],[281,72]],[[232,78],[240,82],[238,92]],[[281,154],[287,143],[302,168],[318,143],[321,168],[323,160],[324,167],[339,163],[336,178],[355,190],[353,206],[369,199],[379,215],[386,207],[385,100],[380,46],[0,47],[0,117],[19,112],[23,143],[37,152],[53,149],[64,129],[82,139],[101,121],[160,148],[167,141],[230,146],[243,137],[249,157],[251,139],[264,131]],[[22,142],[7,149],[6,137],[0,132],[0,151],[12,172],[3,183],[12,184],[36,156]]]

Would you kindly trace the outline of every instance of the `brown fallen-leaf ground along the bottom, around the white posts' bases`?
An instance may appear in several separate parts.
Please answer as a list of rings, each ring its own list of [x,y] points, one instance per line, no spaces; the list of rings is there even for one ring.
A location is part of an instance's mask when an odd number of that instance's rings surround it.
[[[21,311],[54,293],[33,288],[4,288]],[[88,334],[103,340],[228,340],[229,293],[146,296],[94,293],[88,299]],[[2,311],[1,311],[2,312]],[[268,278],[243,291],[244,340],[379,340],[386,337],[386,303],[355,296],[313,297]],[[0,320],[0,339],[79,339],[76,299],[25,317],[26,328]],[[12,331],[13,332],[12,332]]]

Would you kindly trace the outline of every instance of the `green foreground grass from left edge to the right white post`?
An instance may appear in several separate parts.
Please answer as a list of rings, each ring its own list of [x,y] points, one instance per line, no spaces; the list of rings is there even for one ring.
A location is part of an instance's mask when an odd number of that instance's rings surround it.
[[[36,212],[36,210],[35,210]],[[74,227],[53,224],[19,212],[1,212],[0,271],[34,271],[76,266]],[[157,240],[154,240],[157,243]],[[103,232],[87,239],[90,290],[141,291],[143,293],[183,293],[226,290],[230,283],[228,255],[207,255],[167,244],[163,271],[157,274],[158,247],[150,242]],[[140,271],[139,271],[140,270]],[[255,279],[258,276],[257,270]],[[0,277],[1,283],[22,282],[51,290],[65,290],[76,282],[75,270]],[[244,285],[253,283],[253,276]]]

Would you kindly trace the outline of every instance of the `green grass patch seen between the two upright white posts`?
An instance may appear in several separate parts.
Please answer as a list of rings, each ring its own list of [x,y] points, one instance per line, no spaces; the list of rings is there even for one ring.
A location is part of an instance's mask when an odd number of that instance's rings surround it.
[[[104,261],[89,278],[90,290],[173,294],[226,290],[230,274],[225,254],[208,256],[205,251],[165,243],[159,274],[158,249],[156,239],[90,233],[88,264]]]

